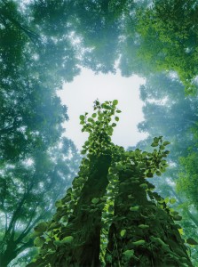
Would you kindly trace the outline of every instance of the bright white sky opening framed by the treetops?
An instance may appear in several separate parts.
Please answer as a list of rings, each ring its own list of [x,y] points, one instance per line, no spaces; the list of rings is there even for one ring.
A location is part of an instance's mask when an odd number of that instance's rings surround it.
[[[93,112],[93,101],[118,100],[120,120],[115,127],[112,141],[124,148],[133,146],[146,137],[138,132],[137,125],[143,120],[142,105],[139,100],[139,85],[144,84],[144,79],[122,77],[118,72],[113,74],[95,75],[90,69],[83,69],[80,76],[75,77],[72,83],[63,86],[59,91],[62,102],[67,105],[69,121],[66,123],[67,137],[75,142],[81,150],[88,135],[81,132],[79,116],[85,112]]]

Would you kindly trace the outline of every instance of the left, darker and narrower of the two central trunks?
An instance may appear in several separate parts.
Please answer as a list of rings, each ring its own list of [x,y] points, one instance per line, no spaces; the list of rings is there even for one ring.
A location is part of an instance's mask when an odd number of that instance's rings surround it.
[[[74,213],[68,220],[67,227],[59,236],[63,239],[72,236],[73,246],[67,247],[61,260],[55,266],[100,266],[99,240],[101,230],[101,208],[99,198],[103,197],[107,188],[107,173],[111,157],[102,155],[91,157],[90,174],[84,183]],[[96,203],[96,204],[95,204]],[[61,248],[60,248],[61,250]],[[57,252],[59,254],[59,250]]]

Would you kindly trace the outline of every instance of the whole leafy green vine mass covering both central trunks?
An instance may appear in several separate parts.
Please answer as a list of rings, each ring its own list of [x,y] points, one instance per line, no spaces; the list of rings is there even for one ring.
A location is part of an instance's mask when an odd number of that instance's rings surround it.
[[[165,172],[169,142],[154,137],[153,152],[116,146],[117,103],[95,101],[91,117],[80,116],[89,133],[80,171],[51,221],[36,226],[39,254],[28,266],[192,266],[175,200],[148,182]]]

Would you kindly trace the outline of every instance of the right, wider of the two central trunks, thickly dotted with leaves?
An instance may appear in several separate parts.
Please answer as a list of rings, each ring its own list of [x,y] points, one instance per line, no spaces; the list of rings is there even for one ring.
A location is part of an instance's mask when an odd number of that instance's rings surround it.
[[[141,164],[141,163],[140,163]],[[140,165],[139,164],[139,165]],[[119,172],[115,219],[108,232],[106,266],[193,266],[169,207],[139,165]],[[124,166],[123,166],[124,169]]]

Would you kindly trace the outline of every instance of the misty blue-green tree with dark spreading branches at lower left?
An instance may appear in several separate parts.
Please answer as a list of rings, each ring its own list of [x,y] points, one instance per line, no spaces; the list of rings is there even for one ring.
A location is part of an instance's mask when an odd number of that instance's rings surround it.
[[[21,252],[33,247],[30,235],[33,228],[50,217],[54,201],[63,196],[75,175],[78,158],[73,143],[64,139],[59,145],[62,149],[55,145],[48,148],[48,153],[36,148],[27,155],[30,158],[2,166],[1,266],[7,266]]]

